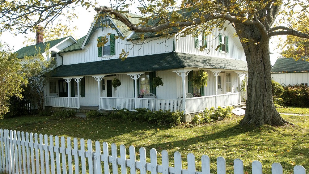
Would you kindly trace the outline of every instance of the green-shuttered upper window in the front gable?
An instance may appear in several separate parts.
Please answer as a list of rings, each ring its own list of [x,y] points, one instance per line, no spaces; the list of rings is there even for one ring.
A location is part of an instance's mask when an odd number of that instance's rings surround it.
[[[102,41],[102,37],[98,37],[99,41]],[[115,34],[111,34],[106,36],[108,39],[107,43],[102,47],[98,47],[98,57],[107,56],[107,55],[115,55]]]

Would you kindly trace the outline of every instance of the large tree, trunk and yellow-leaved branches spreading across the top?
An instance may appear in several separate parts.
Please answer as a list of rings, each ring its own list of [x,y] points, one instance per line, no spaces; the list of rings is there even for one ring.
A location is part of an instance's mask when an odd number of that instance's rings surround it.
[[[97,2],[84,0],[3,2],[0,23],[4,29],[12,30],[15,26],[20,32],[31,30],[38,23],[53,21],[59,15],[72,17],[71,9],[76,5],[93,7],[103,15],[120,20],[129,30],[141,33],[141,39],[145,39],[142,34],[145,32],[161,36],[194,35],[197,29],[202,29],[205,34],[211,34],[215,27],[225,30],[227,21],[235,28],[235,36],[242,42],[248,63],[247,108],[241,124],[287,123],[274,108],[272,100],[269,39],[279,35],[309,38],[304,32],[308,31],[308,25],[302,22],[308,19],[309,0],[182,0],[181,3],[175,0],[117,0],[110,1],[110,6],[97,6]],[[129,8],[135,5],[142,16],[138,24],[126,17]]]

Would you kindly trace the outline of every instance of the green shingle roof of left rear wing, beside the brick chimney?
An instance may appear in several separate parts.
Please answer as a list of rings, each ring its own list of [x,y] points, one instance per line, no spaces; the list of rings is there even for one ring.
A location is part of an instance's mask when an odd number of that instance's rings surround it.
[[[70,37],[70,36],[68,36]],[[49,48],[52,48],[53,46],[59,44],[61,41],[65,40],[68,37],[64,37],[61,39],[56,39],[56,40],[51,40],[48,42],[43,42],[38,45],[30,45],[23,47],[16,51],[17,53],[17,58],[22,59],[24,56],[34,56],[35,54],[38,54],[39,48],[41,49],[41,53],[44,53],[44,49],[46,48],[46,45],[49,43]]]

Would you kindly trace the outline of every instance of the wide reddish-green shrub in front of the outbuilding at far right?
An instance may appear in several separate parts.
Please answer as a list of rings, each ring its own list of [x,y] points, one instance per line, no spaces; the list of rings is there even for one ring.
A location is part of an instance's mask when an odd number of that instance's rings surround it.
[[[309,107],[309,88],[303,85],[286,86],[281,98],[286,106]]]

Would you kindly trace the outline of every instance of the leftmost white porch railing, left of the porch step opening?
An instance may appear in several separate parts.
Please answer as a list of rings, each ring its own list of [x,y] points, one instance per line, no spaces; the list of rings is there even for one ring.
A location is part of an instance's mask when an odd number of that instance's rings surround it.
[[[70,108],[78,108],[77,107],[77,97],[69,97],[70,99]],[[46,106],[53,107],[68,107],[68,97],[50,97],[46,96]]]

